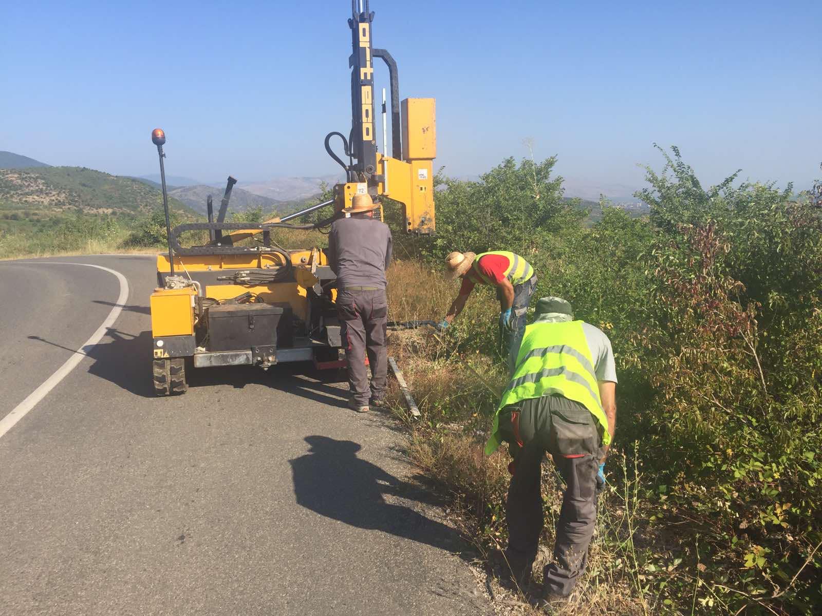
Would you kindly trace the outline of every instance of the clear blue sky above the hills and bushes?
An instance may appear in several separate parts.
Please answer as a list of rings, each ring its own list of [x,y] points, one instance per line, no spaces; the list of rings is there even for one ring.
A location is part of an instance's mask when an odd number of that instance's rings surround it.
[[[822,2],[372,0],[400,94],[437,100],[436,166],[558,156],[583,182],[641,185],[678,145],[704,182],[796,182],[822,160]],[[348,0],[15,2],[0,37],[0,149],[206,181],[335,172],[350,126]],[[387,71],[378,73],[387,85]],[[381,137],[378,136],[381,142]]]

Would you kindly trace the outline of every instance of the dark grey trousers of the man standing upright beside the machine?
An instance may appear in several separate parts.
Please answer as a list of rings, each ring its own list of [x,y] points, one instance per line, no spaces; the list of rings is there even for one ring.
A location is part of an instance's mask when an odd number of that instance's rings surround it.
[[[368,398],[382,398],[386,394],[388,351],[386,328],[388,300],[385,289],[342,289],[337,295],[337,314],[342,324],[340,333],[349,362],[349,388],[352,398],[360,406],[367,406]],[[365,356],[371,365],[371,392],[368,390],[368,370]]]

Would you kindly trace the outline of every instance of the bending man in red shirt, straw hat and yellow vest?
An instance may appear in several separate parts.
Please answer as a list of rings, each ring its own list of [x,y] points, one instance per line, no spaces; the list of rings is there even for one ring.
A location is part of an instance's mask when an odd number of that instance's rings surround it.
[[[451,324],[462,312],[475,284],[492,284],[496,287],[496,299],[500,301],[500,331],[504,351],[508,354],[508,374],[514,370],[517,349],[525,329],[526,312],[537,276],[533,267],[513,252],[452,252],[446,257],[446,278],[462,278],[459,295],[451,303],[440,328]]]

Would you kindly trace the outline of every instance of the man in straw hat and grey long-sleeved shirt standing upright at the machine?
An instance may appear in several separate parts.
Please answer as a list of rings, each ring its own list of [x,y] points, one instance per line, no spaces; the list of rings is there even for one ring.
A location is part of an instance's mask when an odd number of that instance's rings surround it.
[[[337,274],[337,314],[349,364],[349,407],[358,412],[381,406],[386,394],[386,269],[391,262],[391,232],[373,218],[378,207],[370,195],[354,195],[351,206],[343,209],[345,218],[335,220],[328,235],[328,261]]]

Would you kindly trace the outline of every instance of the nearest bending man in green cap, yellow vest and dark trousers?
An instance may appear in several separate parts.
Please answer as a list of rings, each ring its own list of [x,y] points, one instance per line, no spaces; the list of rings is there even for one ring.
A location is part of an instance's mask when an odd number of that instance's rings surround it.
[[[502,393],[485,453],[503,440],[514,458],[506,503],[508,547],[496,558],[504,576],[522,589],[543,530],[541,462],[551,453],[566,482],[556,522],[554,561],[544,571],[541,603],[547,610],[568,598],[585,569],[597,517],[596,494],[617,421],[617,371],[602,330],[575,321],[561,297],[537,302],[525,329],[514,375]]]

